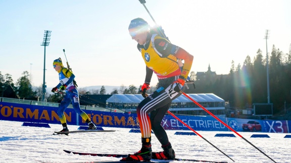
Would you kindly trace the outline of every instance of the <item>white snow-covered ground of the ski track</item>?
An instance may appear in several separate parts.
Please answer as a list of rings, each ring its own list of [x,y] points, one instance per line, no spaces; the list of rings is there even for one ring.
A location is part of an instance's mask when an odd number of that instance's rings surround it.
[[[50,124],[51,128],[26,127],[23,122],[0,121],[0,162],[79,162],[119,160],[114,157],[68,154],[63,149],[90,152],[128,154],[141,147],[140,133],[130,133],[128,128],[108,128],[115,132],[71,133],[52,135],[62,129],[61,124]],[[77,130],[79,126],[68,126]],[[167,130],[177,158],[233,162],[200,136],[175,135]],[[186,131],[192,132],[192,131]],[[244,139],[215,137],[218,131],[197,131],[204,138],[231,157],[235,162],[273,162]],[[291,162],[291,138],[282,133],[239,132],[276,162]],[[251,138],[253,134],[268,134],[270,138]],[[290,135],[290,134],[289,134]],[[153,151],[161,151],[161,144],[152,135]]]

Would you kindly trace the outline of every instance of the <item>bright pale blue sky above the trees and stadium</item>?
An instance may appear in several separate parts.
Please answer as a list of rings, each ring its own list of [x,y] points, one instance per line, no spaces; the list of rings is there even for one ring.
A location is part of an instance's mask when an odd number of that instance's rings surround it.
[[[291,1],[147,0],[155,21],[170,41],[194,56],[191,71],[227,74],[260,48],[266,55],[265,30],[283,53],[291,44]],[[128,34],[134,18],[153,20],[138,0],[124,1],[0,1],[0,71],[14,82],[27,70],[33,86],[43,81],[44,30],[51,30],[46,47],[45,82],[58,84],[54,59],[63,49],[79,87],[142,85],[145,65]],[[152,85],[156,85],[154,75]]]

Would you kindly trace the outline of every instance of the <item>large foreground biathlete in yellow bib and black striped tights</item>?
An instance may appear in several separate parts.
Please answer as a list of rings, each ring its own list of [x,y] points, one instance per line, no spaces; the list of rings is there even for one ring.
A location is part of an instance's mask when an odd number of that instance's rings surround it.
[[[142,146],[138,152],[129,154],[122,160],[149,161],[152,157],[174,159],[175,152],[161,122],[170,108],[171,101],[183,93],[183,85],[191,68],[193,56],[165,38],[151,33],[148,23],[141,18],[133,19],[128,30],[132,39],[138,43],[137,48],[146,63],[146,79],[141,87],[141,94],[145,99],[136,109]],[[177,63],[178,58],[184,60],[182,72]],[[146,90],[150,88],[154,72],[159,80],[158,89],[146,97]],[[163,151],[152,152],[151,130],[162,144]]]

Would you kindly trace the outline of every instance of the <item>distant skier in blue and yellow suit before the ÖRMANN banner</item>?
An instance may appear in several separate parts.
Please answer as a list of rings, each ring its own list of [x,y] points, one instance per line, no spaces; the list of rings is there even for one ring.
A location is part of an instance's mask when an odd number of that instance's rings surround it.
[[[64,111],[71,103],[74,110],[82,117],[83,120],[88,123],[88,129],[96,129],[96,126],[91,122],[88,115],[80,109],[78,90],[73,83],[73,80],[75,78],[73,72],[63,66],[61,58],[54,60],[53,66],[55,70],[59,72],[60,83],[58,84],[58,86],[52,89],[52,92],[56,92],[58,89],[66,90],[66,95],[64,96],[58,108],[58,115],[63,125],[63,130],[61,130],[61,132],[69,131]]]

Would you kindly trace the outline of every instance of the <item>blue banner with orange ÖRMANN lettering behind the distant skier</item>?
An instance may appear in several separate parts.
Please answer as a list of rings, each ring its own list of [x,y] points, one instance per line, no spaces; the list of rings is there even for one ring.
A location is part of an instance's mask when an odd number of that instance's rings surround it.
[[[57,110],[57,107],[0,102],[0,120],[60,124]],[[139,126],[136,114],[83,111],[100,127],[138,128]],[[69,125],[87,125],[74,109],[67,108],[65,116]]]

